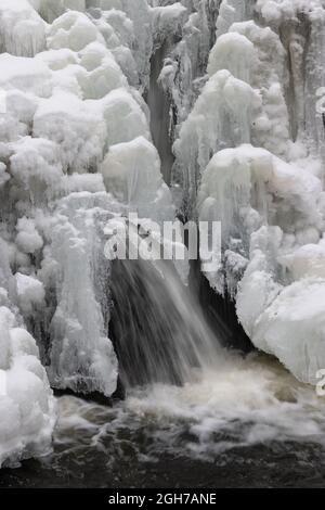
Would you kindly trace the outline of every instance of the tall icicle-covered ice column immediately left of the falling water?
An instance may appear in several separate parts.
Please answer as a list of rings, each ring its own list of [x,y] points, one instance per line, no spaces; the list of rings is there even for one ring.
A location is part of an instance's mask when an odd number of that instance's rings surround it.
[[[105,192],[72,193],[49,220],[50,243],[39,272],[56,296],[50,320],[50,380],[76,393],[116,390],[117,359],[107,337],[110,263],[105,226],[120,206]],[[40,339],[41,341],[41,339]]]

